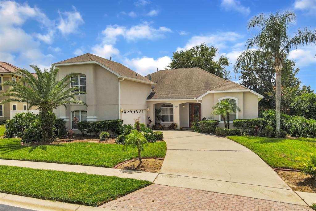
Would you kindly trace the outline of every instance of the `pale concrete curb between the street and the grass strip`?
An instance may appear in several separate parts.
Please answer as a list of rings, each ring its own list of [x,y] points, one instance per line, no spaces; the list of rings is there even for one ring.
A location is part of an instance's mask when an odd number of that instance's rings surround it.
[[[71,204],[60,201],[49,201],[43,199],[36,199],[20,195],[12,195],[0,193],[0,204],[20,207],[25,209],[33,209],[38,211],[113,211],[99,207],[90,207],[80,204]]]

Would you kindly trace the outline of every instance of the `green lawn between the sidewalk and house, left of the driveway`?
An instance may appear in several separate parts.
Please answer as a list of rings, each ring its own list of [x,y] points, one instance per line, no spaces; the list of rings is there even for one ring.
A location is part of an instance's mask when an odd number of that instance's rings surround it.
[[[166,155],[166,143],[159,141],[144,147],[142,157]],[[124,159],[137,158],[137,149],[122,150],[120,144],[68,143],[55,145],[23,146],[17,138],[0,138],[0,158],[13,160],[66,163],[112,168]]]

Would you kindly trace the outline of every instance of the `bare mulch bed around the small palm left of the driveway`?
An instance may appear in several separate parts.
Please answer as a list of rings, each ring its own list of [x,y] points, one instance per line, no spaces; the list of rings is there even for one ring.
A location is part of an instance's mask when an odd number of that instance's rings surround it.
[[[116,169],[134,170],[134,171],[146,171],[159,173],[162,166],[162,159],[155,158],[142,158],[143,163],[140,163],[138,159],[133,159],[122,163],[121,165],[115,167]]]

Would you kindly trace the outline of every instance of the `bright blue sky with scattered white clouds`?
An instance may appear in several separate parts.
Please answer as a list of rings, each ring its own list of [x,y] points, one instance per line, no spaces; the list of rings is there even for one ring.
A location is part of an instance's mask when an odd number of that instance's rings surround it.
[[[292,10],[298,28],[316,28],[316,0],[293,1],[1,1],[0,60],[21,68],[92,53],[112,56],[146,75],[164,69],[176,50],[202,42],[226,55],[232,70],[245,42],[248,20],[258,13]],[[293,49],[303,85],[316,90],[315,46]],[[231,71],[232,80],[235,79]]]

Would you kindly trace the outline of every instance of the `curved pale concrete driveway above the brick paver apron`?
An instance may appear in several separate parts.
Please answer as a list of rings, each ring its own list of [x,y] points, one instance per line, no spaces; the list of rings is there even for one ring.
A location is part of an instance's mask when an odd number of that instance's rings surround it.
[[[246,147],[191,131],[163,133],[167,154],[154,183],[306,205]]]

